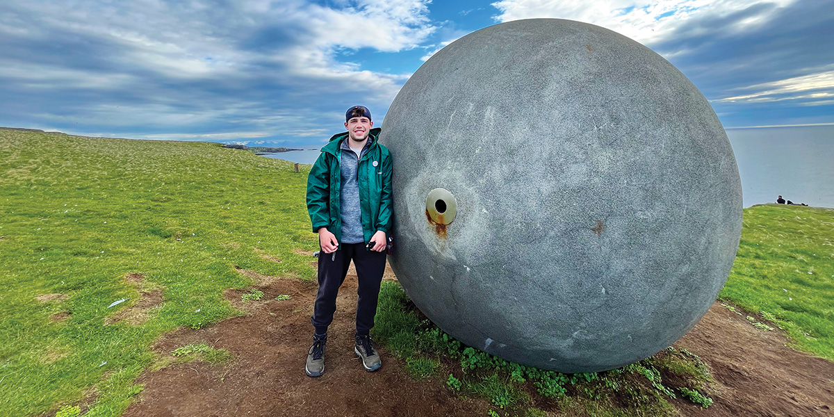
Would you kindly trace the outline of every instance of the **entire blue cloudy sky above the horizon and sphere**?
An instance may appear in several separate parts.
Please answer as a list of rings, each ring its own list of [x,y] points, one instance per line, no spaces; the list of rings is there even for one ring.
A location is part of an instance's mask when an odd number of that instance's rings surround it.
[[[521,18],[636,39],[726,128],[834,123],[834,0],[0,0],[0,126],[319,145],[351,105],[379,123],[446,44]]]

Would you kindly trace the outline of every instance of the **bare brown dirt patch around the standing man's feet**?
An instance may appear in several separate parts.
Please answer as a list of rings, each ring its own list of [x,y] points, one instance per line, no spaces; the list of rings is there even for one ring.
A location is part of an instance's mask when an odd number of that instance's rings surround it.
[[[393,277],[388,270],[386,278]],[[304,374],[304,360],[312,343],[309,318],[317,285],[257,278],[261,283],[256,288],[269,301],[242,304],[240,294],[245,291],[227,292],[229,301],[251,314],[205,329],[180,329],[154,346],[159,352],[170,352],[205,342],[228,349],[234,355],[232,363],[191,362],[146,371],[137,380],[145,389],[125,416],[486,415],[486,401],[458,399],[436,381],[411,381],[382,349],[382,368],[374,373],[364,370],[354,354],[357,287],[353,270],[339,290],[328,330],[324,375],[309,378]],[[275,301],[279,294],[292,298]]]

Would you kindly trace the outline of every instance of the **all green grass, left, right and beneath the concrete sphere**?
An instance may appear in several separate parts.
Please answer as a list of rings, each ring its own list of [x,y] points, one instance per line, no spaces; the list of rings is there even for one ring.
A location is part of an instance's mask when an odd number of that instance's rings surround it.
[[[153,364],[154,339],[239,314],[223,291],[252,283],[235,266],[315,276],[312,259],[304,255],[317,248],[304,208],[306,173],[293,173],[291,163],[216,143],[0,129],[0,173],[0,415],[43,414],[78,404],[90,393],[94,401],[84,415],[121,414],[142,389],[133,380]],[[746,209],[736,264],[721,293],[727,304],[784,327],[798,349],[827,359],[834,359],[832,225],[834,210]],[[144,280],[136,284],[128,274],[143,274]],[[140,291],[153,290],[162,291],[164,302],[147,317],[113,323],[138,303]],[[388,314],[383,306],[402,310],[403,297],[386,287],[379,314]],[[108,307],[119,299],[127,300]],[[407,316],[389,319],[391,326],[378,326],[377,332],[400,344],[394,347],[414,378],[441,369],[440,359],[425,350],[445,349],[451,357],[452,346],[462,355],[455,360],[474,364],[478,378],[453,374],[450,389],[481,393],[496,406],[543,395],[538,389],[558,394],[559,387],[597,386],[585,380],[592,376],[571,382],[465,353]],[[402,329],[422,339],[397,336]],[[690,363],[688,372],[697,374],[695,359],[681,352],[668,356]],[[632,393],[637,398],[664,395],[662,389],[651,391],[651,368],[666,366],[659,360],[622,376],[642,375],[649,390]],[[538,381],[535,394],[507,388],[514,371],[530,384]],[[595,407],[585,403],[565,407]],[[657,411],[662,412],[663,407]]]

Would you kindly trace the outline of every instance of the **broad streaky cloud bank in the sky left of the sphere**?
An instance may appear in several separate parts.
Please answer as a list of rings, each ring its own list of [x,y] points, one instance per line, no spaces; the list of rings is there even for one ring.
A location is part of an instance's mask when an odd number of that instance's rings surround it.
[[[0,83],[25,98],[50,93],[26,112],[33,124],[211,132],[248,123],[321,135],[316,123],[342,117],[328,113],[334,97],[387,106],[409,77],[339,62],[337,53],[415,48],[435,31],[429,3],[15,2],[0,7]],[[13,56],[3,49],[8,40],[23,45],[18,51],[44,50]],[[56,43],[68,48],[47,49]],[[90,98],[79,101],[79,91]]]

